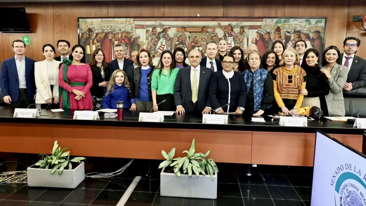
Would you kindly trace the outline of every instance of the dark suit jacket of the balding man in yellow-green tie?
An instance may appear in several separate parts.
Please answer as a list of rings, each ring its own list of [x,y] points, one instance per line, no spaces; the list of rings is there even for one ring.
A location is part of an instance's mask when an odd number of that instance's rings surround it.
[[[212,77],[212,70],[200,66],[198,82],[197,109],[203,111],[205,107],[211,107],[208,100],[209,85]],[[182,105],[186,113],[194,111],[192,102],[191,66],[179,69],[174,84],[175,106]]]

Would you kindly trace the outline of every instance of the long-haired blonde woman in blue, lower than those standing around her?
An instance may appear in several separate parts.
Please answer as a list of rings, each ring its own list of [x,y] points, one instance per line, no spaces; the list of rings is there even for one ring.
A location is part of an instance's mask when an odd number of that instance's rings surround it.
[[[111,79],[103,97],[103,108],[117,109],[117,102],[123,101],[123,107],[129,109],[131,107],[131,89],[127,74],[122,69],[113,71]]]

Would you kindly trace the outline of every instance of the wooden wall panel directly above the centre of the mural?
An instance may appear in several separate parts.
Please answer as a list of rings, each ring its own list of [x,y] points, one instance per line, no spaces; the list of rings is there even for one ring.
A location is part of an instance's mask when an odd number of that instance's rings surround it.
[[[165,16],[223,16],[224,12],[224,0],[164,1],[164,5]]]

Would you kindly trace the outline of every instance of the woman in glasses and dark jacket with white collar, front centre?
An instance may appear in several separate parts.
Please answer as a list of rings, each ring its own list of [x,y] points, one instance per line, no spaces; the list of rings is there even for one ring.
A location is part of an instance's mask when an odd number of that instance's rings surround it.
[[[216,71],[211,78],[209,99],[212,108],[217,114],[243,114],[247,99],[243,74],[234,72],[232,54],[224,55],[221,65],[223,70]]]

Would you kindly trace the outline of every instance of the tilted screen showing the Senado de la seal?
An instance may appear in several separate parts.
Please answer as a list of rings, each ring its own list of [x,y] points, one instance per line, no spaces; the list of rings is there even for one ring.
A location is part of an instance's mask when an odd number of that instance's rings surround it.
[[[311,206],[366,206],[366,155],[317,130]]]

